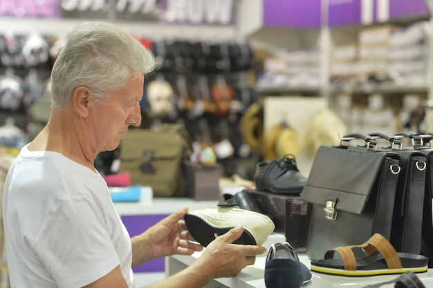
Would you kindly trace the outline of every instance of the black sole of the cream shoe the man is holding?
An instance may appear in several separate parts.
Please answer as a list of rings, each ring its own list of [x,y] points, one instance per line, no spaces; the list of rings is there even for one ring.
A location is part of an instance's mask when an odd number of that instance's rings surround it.
[[[210,242],[216,237],[227,233],[234,227],[216,227],[209,222],[203,220],[199,216],[186,214],[184,217],[185,224],[192,237],[204,247],[207,247]],[[243,229],[241,237],[233,242],[234,244],[256,245],[255,238],[250,231]]]

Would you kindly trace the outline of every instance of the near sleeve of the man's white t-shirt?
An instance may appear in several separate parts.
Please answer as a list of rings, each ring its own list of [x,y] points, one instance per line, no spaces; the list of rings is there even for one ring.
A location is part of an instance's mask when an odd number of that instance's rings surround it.
[[[48,215],[33,249],[59,287],[83,287],[120,264],[109,233],[89,198],[71,198]]]

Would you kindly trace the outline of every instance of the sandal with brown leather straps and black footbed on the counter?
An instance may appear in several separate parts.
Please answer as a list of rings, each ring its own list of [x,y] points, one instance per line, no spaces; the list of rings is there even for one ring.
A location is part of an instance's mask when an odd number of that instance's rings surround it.
[[[362,249],[366,256],[356,258],[352,249]],[[341,259],[335,259],[338,252]],[[360,245],[349,245],[326,251],[324,259],[312,260],[311,271],[339,276],[378,276],[427,272],[428,258],[413,253],[400,253],[379,233]]]

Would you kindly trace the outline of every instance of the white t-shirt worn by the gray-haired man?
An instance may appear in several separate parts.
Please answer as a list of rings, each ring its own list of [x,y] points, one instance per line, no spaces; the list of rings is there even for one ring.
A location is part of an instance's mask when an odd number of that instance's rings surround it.
[[[83,287],[118,265],[133,287],[131,239],[107,184],[62,154],[21,149],[6,177],[3,222],[12,287]]]

